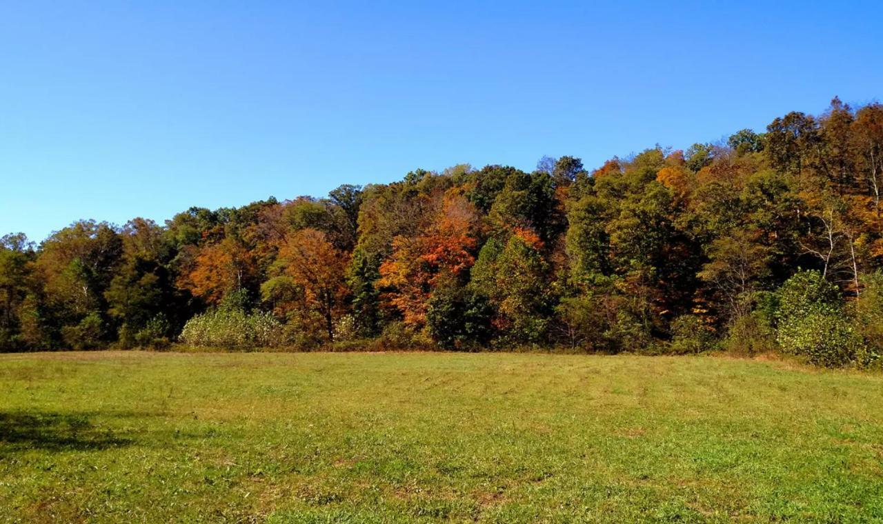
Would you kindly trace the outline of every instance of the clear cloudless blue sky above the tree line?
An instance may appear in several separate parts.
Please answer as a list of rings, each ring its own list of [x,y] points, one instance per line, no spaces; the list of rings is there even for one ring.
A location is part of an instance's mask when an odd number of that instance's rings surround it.
[[[0,0],[0,234],[595,167],[883,94],[879,2],[295,4]]]

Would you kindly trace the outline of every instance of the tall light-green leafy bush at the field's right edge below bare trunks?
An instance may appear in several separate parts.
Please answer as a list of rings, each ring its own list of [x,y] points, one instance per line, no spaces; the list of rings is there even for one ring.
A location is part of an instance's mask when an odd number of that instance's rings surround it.
[[[786,353],[838,367],[864,365],[867,351],[843,310],[837,288],[816,271],[800,271],[778,292],[776,341]]]

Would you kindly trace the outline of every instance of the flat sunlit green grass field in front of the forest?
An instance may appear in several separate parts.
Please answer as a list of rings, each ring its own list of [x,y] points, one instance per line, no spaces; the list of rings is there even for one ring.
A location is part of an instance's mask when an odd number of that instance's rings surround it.
[[[0,356],[3,521],[881,521],[883,376],[722,357]]]

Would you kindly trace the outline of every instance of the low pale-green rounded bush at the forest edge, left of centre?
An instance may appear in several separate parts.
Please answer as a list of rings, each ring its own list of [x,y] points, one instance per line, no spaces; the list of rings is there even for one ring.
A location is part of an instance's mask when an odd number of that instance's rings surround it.
[[[181,341],[191,346],[272,348],[285,342],[283,325],[265,312],[221,309],[197,315],[184,326]]]

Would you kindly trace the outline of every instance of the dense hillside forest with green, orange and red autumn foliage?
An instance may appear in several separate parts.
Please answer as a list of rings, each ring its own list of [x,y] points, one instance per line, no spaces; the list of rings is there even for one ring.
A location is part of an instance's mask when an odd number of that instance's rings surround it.
[[[0,242],[0,349],[883,348],[883,105]],[[23,219],[26,220],[26,219]]]

